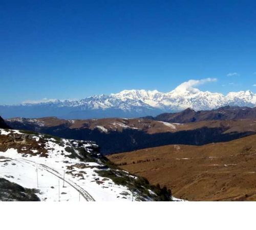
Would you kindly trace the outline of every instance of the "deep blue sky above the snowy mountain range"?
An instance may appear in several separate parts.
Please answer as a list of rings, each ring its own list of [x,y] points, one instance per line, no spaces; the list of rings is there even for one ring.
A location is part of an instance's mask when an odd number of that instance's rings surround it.
[[[124,89],[256,93],[256,1],[0,0],[0,104]]]

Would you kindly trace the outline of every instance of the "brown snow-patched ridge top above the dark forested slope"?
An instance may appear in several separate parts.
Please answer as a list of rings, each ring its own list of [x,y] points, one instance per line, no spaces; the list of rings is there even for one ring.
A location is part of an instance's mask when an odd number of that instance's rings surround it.
[[[33,127],[57,127],[67,126],[70,129],[98,129],[101,132],[119,131],[124,129],[141,130],[148,134],[179,132],[186,130],[195,130],[202,127],[207,128],[225,128],[225,133],[233,132],[256,132],[256,119],[230,120],[230,121],[201,121],[193,123],[166,123],[150,119],[88,119],[88,120],[65,120],[56,117],[46,117],[38,119],[13,118],[7,122],[14,128],[21,128],[17,124],[23,124]],[[17,127],[16,127],[17,126]],[[105,131],[104,131],[105,130]]]

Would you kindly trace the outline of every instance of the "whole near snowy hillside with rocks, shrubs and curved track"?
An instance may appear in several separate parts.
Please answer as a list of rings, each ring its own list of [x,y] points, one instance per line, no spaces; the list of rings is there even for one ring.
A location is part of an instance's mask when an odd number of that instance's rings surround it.
[[[93,142],[0,129],[0,168],[5,189],[41,201],[171,200],[165,188],[116,168]],[[3,200],[21,200],[18,191],[9,195]]]

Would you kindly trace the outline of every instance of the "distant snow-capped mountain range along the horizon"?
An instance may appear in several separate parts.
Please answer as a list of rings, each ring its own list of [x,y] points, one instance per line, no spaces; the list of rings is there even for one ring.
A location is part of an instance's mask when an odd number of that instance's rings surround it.
[[[59,118],[106,118],[155,116],[162,112],[181,111],[186,108],[209,110],[225,105],[256,105],[256,94],[252,91],[230,92],[226,96],[210,91],[201,91],[182,84],[168,93],[157,90],[123,90],[117,94],[97,95],[81,100],[52,100],[44,103],[2,105],[0,114],[10,117]]]

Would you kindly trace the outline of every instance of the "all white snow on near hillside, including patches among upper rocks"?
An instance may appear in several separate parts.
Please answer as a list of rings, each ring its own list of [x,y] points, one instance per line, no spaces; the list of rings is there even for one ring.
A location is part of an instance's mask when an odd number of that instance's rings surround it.
[[[0,132],[1,135],[21,134],[16,130],[0,129]],[[55,139],[47,139],[42,135],[34,135],[32,140],[38,144],[38,148],[28,146],[27,149],[24,145],[20,150],[9,148],[7,151],[0,151],[0,177],[24,188],[38,189],[36,195],[42,201],[140,200],[140,195],[132,194],[126,186],[117,185],[112,179],[99,176],[97,170],[102,170],[104,165],[71,157],[72,153],[67,151],[67,147],[78,147],[81,145],[78,141],[61,139],[60,144]],[[42,145],[47,150],[47,157],[42,156]],[[87,152],[92,152],[92,146],[93,144],[84,142],[82,145]]]

